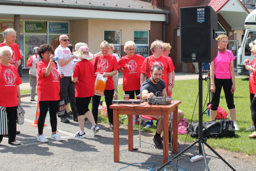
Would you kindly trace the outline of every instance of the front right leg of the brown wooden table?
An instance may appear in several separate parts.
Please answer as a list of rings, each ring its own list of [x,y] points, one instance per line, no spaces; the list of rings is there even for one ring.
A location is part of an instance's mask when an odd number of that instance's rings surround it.
[[[168,111],[163,111],[163,164],[168,162],[169,155],[169,122]]]

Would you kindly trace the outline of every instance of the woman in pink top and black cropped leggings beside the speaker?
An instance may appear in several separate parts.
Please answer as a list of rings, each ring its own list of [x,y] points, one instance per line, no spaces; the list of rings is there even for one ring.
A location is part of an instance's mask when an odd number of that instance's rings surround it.
[[[228,37],[224,34],[217,37],[218,55],[210,64],[210,78],[212,101],[210,109],[210,121],[215,120],[217,108],[220,103],[220,95],[223,87],[228,111],[234,122],[235,130],[239,130],[236,124],[236,109],[234,105],[234,92],[236,90],[234,55],[232,51],[226,49]]]

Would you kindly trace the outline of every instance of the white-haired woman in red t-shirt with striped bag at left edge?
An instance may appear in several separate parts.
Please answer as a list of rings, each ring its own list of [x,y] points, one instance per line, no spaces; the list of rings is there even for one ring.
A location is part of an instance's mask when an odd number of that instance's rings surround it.
[[[19,145],[16,141],[16,115],[18,102],[20,103],[20,84],[21,79],[18,70],[11,65],[12,50],[9,46],[0,47],[0,115],[1,119],[7,113],[8,120],[8,143],[11,145]],[[6,120],[0,120],[0,143],[3,140],[3,135],[7,134],[7,130],[3,129],[6,126]]]

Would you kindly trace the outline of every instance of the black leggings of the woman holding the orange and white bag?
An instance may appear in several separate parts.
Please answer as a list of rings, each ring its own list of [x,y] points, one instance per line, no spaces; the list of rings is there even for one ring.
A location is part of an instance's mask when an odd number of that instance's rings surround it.
[[[109,106],[112,105],[114,91],[115,91],[115,89],[104,91],[105,102],[106,102],[107,111],[108,111],[108,121],[111,124],[113,124],[113,109],[110,109]],[[97,121],[98,121],[98,107],[99,107],[100,98],[101,98],[101,96],[99,96],[99,95],[94,95],[92,97],[92,99],[93,99],[92,113],[93,113],[93,117],[94,117],[94,120],[95,120],[96,124],[97,124]]]

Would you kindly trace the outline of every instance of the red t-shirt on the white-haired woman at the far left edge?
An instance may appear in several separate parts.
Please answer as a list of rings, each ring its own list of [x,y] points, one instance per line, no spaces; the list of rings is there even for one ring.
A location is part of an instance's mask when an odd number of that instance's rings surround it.
[[[17,85],[21,83],[18,70],[13,65],[4,66],[0,64],[0,106],[18,106]]]

